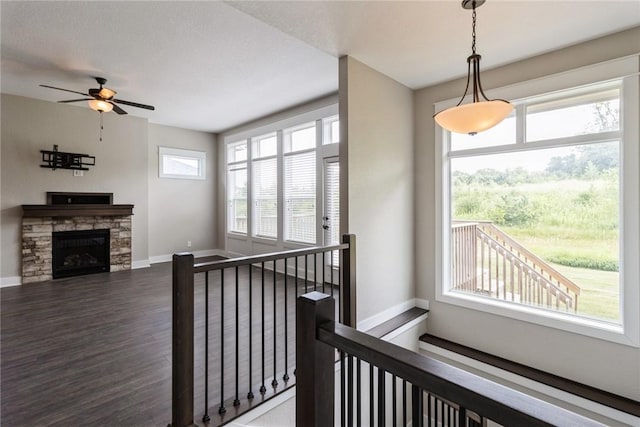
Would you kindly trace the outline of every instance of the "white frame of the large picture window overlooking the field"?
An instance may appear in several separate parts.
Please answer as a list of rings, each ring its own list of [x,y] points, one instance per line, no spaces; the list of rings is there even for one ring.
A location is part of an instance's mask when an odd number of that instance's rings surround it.
[[[637,259],[640,256],[640,151],[638,149],[639,129],[639,77],[638,57],[631,56],[606,63],[595,64],[577,70],[551,75],[529,82],[488,91],[491,97],[515,100],[516,116],[524,119],[522,101],[536,98],[539,101],[547,94],[550,98],[567,89],[578,89],[612,80],[621,80],[620,93],[620,318],[621,325],[597,321],[562,312],[541,310],[525,305],[515,305],[499,300],[474,297],[470,294],[451,292],[447,289],[450,275],[450,173],[448,154],[448,132],[435,126],[436,161],[436,300],[452,305],[517,319],[541,326],[551,327],[632,347],[640,347],[640,270]],[[455,105],[455,100],[447,100],[434,105],[440,111]],[[524,127],[516,126],[516,144],[496,147],[468,149],[458,153],[467,155],[487,152],[509,152],[532,149],[524,142]],[[589,142],[611,140],[617,132],[596,134]],[[564,138],[565,141],[575,137]],[[584,138],[582,138],[584,139]],[[589,138],[588,138],[589,139]],[[588,143],[588,142],[587,142]],[[564,144],[562,144],[564,145]],[[562,146],[561,145],[561,146]],[[558,146],[557,140],[536,142],[536,147]]]

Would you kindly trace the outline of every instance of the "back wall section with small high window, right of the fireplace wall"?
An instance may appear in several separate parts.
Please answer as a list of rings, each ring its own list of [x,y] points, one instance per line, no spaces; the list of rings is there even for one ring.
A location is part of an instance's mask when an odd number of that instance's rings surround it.
[[[206,179],[158,176],[158,147],[204,151]],[[149,256],[217,248],[217,147],[211,133],[149,124]],[[191,247],[187,242],[191,241]]]

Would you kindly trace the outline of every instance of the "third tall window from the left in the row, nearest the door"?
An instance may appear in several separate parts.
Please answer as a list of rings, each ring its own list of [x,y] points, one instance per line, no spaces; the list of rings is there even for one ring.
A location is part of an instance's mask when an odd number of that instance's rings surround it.
[[[316,124],[284,134],[284,239],[316,243]]]

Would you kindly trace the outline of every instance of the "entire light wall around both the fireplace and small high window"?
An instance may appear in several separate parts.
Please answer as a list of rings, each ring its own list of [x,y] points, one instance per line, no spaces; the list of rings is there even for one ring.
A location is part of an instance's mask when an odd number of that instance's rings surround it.
[[[88,108],[2,95],[0,284],[19,283],[23,204],[46,203],[47,191],[110,192],[114,203],[133,204],[133,265],[186,250],[219,249],[217,242],[216,136],[149,124],[131,115],[104,114]],[[84,153],[96,166],[73,171],[40,167],[40,150]],[[157,146],[207,152],[207,180],[158,178]]]

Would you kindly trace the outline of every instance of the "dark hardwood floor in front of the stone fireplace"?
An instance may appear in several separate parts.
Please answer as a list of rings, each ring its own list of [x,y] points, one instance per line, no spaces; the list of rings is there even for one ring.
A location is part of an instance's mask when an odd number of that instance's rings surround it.
[[[210,276],[209,414],[217,421],[220,384],[226,418],[235,409],[235,281],[225,275],[224,331],[220,275]],[[248,351],[248,270],[240,272],[238,331],[239,395],[246,406],[262,397],[261,326],[265,326],[265,377],[272,394],[276,352],[278,389],[284,382],[284,286],[276,277],[276,345],[273,344],[273,274],[266,272],[262,319],[259,269],[253,269],[252,350]],[[312,286],[311,286],[312,287]],[[304,283],[298,283],[298,293]],[[287,287],[288,375],[295,363],[295,288]],[[328,292],[328,291],[327,291]],[[166,426],[171,420],[171,264],[1,289],[1,405],[3,426]],[[204,412],[204,276],[196,275],[195,409]],[[336,295],[337,296],[337,295]],[[224,334],[224,381],[220,336]],[[274,350],[275,348],[275,350]],[[252,373],[248,373],[249,358]],[[291,383],[291,381],[290,381]],[[290,384],[289,384],[290,385]],[[229,400],[230,399],[230,400]],[[216,417],[214,417],[216,415]]]

